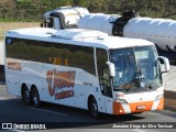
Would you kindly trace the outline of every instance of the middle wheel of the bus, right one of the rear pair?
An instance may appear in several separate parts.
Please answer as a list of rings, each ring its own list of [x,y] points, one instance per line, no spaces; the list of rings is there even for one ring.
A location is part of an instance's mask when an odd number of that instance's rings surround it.
[[[32,105],[36,108],[41,106],[40,95],[36,88],[32,90]]]

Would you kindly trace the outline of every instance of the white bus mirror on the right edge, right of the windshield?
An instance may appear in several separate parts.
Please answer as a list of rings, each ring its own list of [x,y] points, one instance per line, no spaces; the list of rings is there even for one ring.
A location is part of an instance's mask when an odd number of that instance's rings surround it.
[[[162,73],[168,73],[169,72],[168,58],[166,58],[164,56],[158,56],[158,61],[161,61],[161,63],[164,65],[164,67],[162,68]]]

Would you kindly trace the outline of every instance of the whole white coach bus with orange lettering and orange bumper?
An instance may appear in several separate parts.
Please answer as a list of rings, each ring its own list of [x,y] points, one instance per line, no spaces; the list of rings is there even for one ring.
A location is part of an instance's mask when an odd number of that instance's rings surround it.
[[[4,68],[8,92],[25,105],[57,103],[99,118],[162,110],[169,63],[145,40],[30,28],[6,33]]]

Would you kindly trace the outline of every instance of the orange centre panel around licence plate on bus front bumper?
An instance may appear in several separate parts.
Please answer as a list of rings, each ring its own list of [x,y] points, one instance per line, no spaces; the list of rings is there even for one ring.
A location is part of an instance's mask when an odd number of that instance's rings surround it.
[[[142,101],[129,103],[131,112],[151,111],[154,101]],[[138,109],[138,107],[145,107],[144,109]]]

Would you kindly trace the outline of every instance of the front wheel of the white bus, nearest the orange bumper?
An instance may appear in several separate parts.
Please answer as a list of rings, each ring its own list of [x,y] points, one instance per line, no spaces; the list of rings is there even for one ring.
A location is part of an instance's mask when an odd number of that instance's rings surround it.
[[[95,98],[90,99],[89,102],[89,111],[90,114],[95,118],[95,119],[99,119],[100,118],[100,113],[98,112],[98,105]]]

